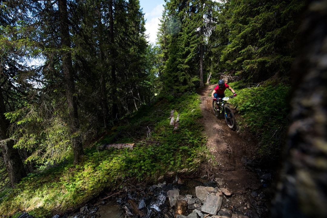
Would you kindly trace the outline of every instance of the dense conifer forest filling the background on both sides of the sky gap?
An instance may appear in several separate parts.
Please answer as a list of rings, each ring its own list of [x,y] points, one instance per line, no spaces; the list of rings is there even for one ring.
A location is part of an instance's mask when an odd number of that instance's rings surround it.
[[[165,3],[151,46],[138,0],[1,2],[5,183],[36,164],[78,163],[90,139],[156,95],[192,92],[210,76],[288,81],[304,0]]]

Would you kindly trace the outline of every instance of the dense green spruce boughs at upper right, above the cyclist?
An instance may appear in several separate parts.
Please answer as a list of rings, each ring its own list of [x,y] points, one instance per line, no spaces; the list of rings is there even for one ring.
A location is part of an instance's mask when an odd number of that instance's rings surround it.
[[[287,75],[303,6],[304,1],[229,1],[230,35],[222,64],[254,82]]]

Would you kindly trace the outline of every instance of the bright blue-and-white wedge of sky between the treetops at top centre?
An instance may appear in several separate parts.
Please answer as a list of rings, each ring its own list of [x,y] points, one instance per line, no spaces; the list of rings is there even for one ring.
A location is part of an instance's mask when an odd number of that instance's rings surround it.
[[[164,0],[140,0],[140,7],[143,8],[144,19],[146,20],[145,28],[148,41],[155,44],[157,32],[163,12]]]

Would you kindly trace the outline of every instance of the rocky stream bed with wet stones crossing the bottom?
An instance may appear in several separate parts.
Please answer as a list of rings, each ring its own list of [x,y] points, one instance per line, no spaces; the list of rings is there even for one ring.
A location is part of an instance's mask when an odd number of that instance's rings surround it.
[[[124,187],[114,198],[89,202],[76,212],[53,218],[250,218],[266,217],[265,194],[247,190],[229,193],[207,179],[182,181],[176,177],[170,184]]]

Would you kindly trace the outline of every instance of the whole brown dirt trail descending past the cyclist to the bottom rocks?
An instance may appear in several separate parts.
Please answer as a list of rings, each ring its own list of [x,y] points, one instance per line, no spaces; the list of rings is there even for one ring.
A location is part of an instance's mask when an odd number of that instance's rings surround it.
[[[267,209],[263,184],[258,172],[250,170],[256,148],[255,140],[250,134],[240,135],[237,130],[231,130],[223,116],[215,116],[211,98],[214,88],[215,85],[206,85],[198,91],[202,102],[201,122],[207,136],[207,147],[214,156],[214,161],[218,163],[218,167],[211,169],[215,172],[214,179],[222,192],[231,196],[229,207],[236,207],[238,212],[250,213],[250,217],[262,215]],[[235,113],[235,109],[232,109]]]

